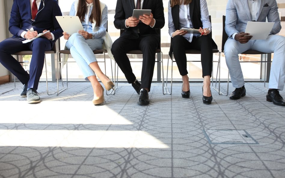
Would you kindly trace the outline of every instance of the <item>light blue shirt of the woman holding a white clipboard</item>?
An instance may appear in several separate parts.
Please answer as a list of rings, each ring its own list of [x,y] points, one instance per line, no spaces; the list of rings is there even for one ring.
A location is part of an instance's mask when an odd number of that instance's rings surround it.
[[[84,20],[84,22],[81,22],[84,31],[86,31],[88,33],[93,33],[95,38],[104,37],[106,34],[107,21],[108,21],[108,8],[107,8],[107,6],[105,5],[105,8],[103,9],[102,16],[101,16],[101,24],[100,24],[99,30],[97,32],[93,32],[92,23],[89,21],[89,17],[91,15],[92,10],[93,10],[93,3],[91,3],[91,4],[86,3],[86,6],[87,6],[87,10],[86,10],[86,14],[85,14],[85,20]],[[76,15],[75,14],[74,2],[71,5],[69,15],[70,16]]]

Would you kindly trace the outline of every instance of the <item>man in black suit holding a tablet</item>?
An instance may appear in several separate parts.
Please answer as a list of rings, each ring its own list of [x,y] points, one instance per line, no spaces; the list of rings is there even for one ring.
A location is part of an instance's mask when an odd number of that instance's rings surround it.
[[[132,18],[133,9],[151,9],[150,15]],[[164,26],[164,8],[162,0],[117,0],[114,25],[124,29],[124,33],[113,43],[112,54],[121,68],[128,83],[139,94],[139,105],[149,104],[150,86],[155,66],[155,50],[160,44],[160,35],[156,29]],[[141,50],[141,84],[133,74],[127,52]]]

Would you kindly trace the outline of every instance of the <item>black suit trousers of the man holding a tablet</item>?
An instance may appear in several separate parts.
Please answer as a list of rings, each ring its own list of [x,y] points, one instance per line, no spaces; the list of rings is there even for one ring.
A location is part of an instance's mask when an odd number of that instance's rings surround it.
[[[115,61],[124,73],[128,83],[133,83],[136,76],[133,74],[127,52],[130,50],[142,51],[141,88],[148,88],[149,91],[155,67],[155,50],[159,46],[157,37],[158,35],[155,34],[139,35],[137,39],[119,37],[114,41],[111,49]]]

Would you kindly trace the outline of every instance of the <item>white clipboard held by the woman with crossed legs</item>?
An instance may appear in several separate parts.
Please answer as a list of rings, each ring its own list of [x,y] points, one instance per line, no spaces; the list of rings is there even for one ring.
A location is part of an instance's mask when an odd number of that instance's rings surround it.
[[[78,30],[84,30],[78,16],[55,16],[63,32],[72,35]]]

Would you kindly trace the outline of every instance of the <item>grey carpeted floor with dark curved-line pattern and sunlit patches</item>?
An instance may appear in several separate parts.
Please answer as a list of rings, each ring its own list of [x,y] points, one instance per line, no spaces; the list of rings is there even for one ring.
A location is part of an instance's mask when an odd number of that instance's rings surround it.
[[[212,89],[205,105],[202,83],[190,84],[189,99],[181,83],[172,95],[153,83],[150,104],[139,106],[133,88],[119,83],[93,106],[87,82],[58,96],[40,83],[39,104],[20,98],[17,83],[0,96],[0,178],[284,178],[285,107],[265,100],[263,83],[245,86],[236,101]]]

